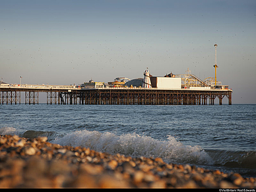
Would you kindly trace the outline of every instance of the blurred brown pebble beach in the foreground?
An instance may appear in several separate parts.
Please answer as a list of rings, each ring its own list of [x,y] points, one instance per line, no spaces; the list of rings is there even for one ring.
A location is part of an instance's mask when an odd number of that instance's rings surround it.
[[[0,188],[256,189],[256,177],[167,164],[162,158],[111,155],[47,140],[0,136]]]

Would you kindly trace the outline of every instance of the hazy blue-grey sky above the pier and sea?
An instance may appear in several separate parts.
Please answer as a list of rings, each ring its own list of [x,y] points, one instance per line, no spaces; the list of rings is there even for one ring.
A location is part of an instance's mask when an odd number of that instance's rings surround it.
[[[256,104],[255,0],[0,0],[0,78],[81,84],[170,72],[214,77]]]

